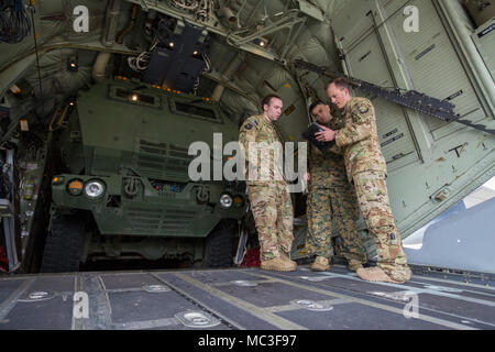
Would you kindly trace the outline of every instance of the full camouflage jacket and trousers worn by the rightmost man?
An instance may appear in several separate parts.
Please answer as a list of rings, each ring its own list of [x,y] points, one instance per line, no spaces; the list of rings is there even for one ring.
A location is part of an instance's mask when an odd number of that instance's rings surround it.
[[[336,131],[336,143],[344,148],[349,180],[354,183],[361,212],[376,243],[377,266],[393,279],[408,279],[410,271],[388,200],[375,109],[365,98],[352,98],[343,119],[344,128]]]

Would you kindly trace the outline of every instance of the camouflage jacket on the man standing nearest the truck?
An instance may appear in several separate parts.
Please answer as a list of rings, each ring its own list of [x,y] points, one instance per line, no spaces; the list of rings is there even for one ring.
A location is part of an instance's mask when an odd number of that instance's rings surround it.
[[[248,186],[268,186],[274,182],[285,183],[282,163],[283,144],[275,127],[264,114],[251,117],[242,124],[239,143],[246,162]],[[255,173],[250,169],[250,166],[255,168]]]

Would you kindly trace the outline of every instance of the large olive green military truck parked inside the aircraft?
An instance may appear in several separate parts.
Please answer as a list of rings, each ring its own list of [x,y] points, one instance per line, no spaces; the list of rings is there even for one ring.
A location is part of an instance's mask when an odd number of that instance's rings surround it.
[[[117,77],[67,105],[51,125],[65,172],[52,180],[43,272],[136,256],[230,265],[232,234],[246,213],[245,183],[188,175],[191,143],[212,151],[215,132],[223,143],[238,140],[217,103]]]

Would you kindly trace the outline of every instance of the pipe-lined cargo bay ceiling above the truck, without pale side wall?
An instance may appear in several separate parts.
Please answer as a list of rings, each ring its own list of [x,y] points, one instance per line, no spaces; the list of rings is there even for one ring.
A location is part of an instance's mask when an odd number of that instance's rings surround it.
[[[18,44],[0,44],[0,92],[3,95],[13,84],[25,80],[36,97],[43,95],[44,110],[50,111],[54,101],[90,81],[98,53],[139,56],[148,51],[146,22],[163,14],[205,26],[209,33],[205,56],[211,67],[205,72],[197,94],[208,97],[216,94],[213,98],[220,99],[234,116],[254,113],[264,95],[277,91],[282,85],[297,87],[285,63],[296,57],[311,58],[316,64],[337,69],[330,18],[343,3],[342,0],[37,1],[34,23],[41,92],[32,33]],[[88,32],[74,30],[78,6],[89,9]],[[26,15],[31,21],[29,10]],[[109,29],[111,20],[116,22]],[[67,72],[67,59],[76,53],[78,70]],[[107,75],[112,74],[116,63],[112,55],[106,66]],[[227,89],[218,88],[215,92],[218,82],[223,82]]]

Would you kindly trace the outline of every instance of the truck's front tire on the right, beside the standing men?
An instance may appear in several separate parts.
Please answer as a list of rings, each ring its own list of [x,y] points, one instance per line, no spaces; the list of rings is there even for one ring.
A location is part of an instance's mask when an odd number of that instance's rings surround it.
[[[231,267],[232,266],[232,229],[220,222],[206,240],[204,266]]]

